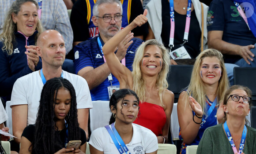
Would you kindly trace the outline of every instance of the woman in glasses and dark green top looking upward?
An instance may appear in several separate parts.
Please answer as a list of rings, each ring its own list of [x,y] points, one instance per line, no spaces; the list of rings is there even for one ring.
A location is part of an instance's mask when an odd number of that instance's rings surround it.
[[[251,95],[251,90],[241,85],[226,91],[218,114],[223,123],[205,130],[197,154],[256,154],[256,129],[248,126],[246,119]]]

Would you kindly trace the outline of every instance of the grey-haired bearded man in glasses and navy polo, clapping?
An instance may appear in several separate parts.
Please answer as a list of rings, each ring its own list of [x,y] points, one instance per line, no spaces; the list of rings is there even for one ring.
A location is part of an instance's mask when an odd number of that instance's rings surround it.
[[[118,89],[119,82],[111,74],[101,48],[121,29],[122,5],[119,0],[105,2],[97,0],[93,7],[93,14],[92,21],[95,26],[98,26],[99,36],[74,47],[75,73],[86,79],[92,101],[109,100],[113,88]],[[125,38],[125,40],[129,40],[129,38]],[[119,44],[115,51],[117,58],[129,70],[132,70],[136,48],[143,42],[138,38],[133,38],[132,41],[130,46],[128,46],[129,41]]]

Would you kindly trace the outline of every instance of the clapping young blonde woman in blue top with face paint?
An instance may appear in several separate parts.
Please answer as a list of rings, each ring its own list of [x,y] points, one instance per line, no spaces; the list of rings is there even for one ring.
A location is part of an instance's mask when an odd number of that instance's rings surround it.
[[[186,147],[198,145],[206,128],[217,125],[220,99],[229,87],[221,52],[207,49],[201,52],[193,66],[187,90],[181,92],[177,104],[180,125],[181,154]]]

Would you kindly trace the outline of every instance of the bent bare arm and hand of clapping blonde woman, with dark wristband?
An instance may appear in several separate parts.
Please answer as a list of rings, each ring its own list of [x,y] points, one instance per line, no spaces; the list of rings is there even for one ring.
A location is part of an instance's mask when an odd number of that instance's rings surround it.
[[[186,103],[186,97],[188,97],[188,93],[185,91],[181,92],[177,104],[177,113],[181,128],[181,137],[183,138],[184,143],[190,144],[194,141],[199,131],[200,124],[196,124],[196,122],[201,123],[202,118],[198,117],[203,117],[203,110],[200,104],[191,96],[188,98]],[[193,121],[192,110],[194,110],[198,116],[194,116],[195,122]]]

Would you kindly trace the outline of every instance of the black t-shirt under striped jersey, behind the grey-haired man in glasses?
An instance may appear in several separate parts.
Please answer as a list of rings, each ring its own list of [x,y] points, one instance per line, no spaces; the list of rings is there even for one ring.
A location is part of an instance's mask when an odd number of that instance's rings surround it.
[[[92,8],[91,8],[92,9]],[[124,12],[125,10],[123,10]],[[131,3],[131,23],[138,15],[143,14],[143,7],[140,0],[132,0]],[[89,38],[89,30],[87,24],[87,3],[86,0],[77,0],[72,7],[70,23],[74,33],[74,42],[85,41]],[[147,24],[138,26],[132,30],[134,36],[146,36],[148,33]]]

